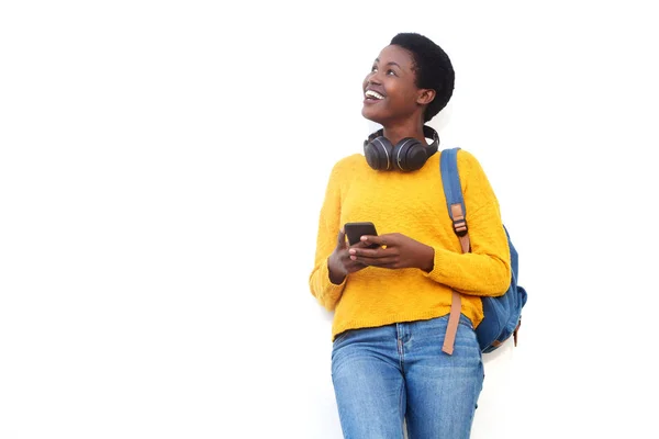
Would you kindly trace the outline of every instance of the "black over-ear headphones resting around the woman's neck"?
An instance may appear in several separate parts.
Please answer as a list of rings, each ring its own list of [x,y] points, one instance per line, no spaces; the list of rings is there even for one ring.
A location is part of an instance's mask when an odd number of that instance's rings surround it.
[[[383,132],[383,130],[378,130],[364,140],[366,161],[375,170],[415,171],[421,169],[439,147],[439,135],[427,125],[423,126],[423,134],[433,139],[428,146],[413,137],[405,137],[393,146],[387,137],[382,136]]]

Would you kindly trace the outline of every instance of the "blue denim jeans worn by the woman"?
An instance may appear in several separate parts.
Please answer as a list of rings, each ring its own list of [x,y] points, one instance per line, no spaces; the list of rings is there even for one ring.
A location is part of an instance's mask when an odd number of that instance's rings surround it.
[[[469,438],[483,363],[463,315],[453,356],[442,351],[448,316],[339,334],[332,382],[346,439]]]

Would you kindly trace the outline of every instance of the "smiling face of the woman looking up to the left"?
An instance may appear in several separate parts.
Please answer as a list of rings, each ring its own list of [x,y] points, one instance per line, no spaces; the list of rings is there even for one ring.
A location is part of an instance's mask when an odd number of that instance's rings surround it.
[[[406,120],[418,111],[421,90],[416,87],[413,67],[410,52],[396,45],[384,47],[364,80],[361,115],[387,125]]]

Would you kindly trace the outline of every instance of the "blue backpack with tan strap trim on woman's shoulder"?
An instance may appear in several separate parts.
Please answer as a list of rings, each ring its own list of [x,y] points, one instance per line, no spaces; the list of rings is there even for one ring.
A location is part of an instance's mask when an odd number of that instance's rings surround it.
[[[460,148],[450,148],[442,151],[439,172],[442,175],[444,194],[446,195],[448,215],[454,224],[454,232],[460,239],[462,251],[468,252],[470,251],[470,245],[465,200],[462,199],[462,188],[458,172],[458,149]],[[526,304],[526,290],[517,284],[517,250],[515,250],[505,226],[503,229],[511,251],[511,283],[507,291],[501,296],[481,297],[484,317],[476,328],[476,336],[481,352],[492,352],[507,340],[511,335],[514,338],[515,346],[517,346],[517,331],[522,324],[522,308]],[[444,351],[449,354],[453,352],[453,341],[460,314],[460,294],[456,291],[453,293],[453,302],[447,334],[444,340]],[[455,326],[455,328],[451,328],[451,326]]]

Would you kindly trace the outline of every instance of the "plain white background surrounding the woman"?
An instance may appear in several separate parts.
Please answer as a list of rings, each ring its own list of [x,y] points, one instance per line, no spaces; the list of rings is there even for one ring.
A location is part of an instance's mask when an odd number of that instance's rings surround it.
[[[651,2],[220,3],[0,3],[0,438],[340,438],[308,277],[398,32],[529,294],[472,437],[659,437]]]

